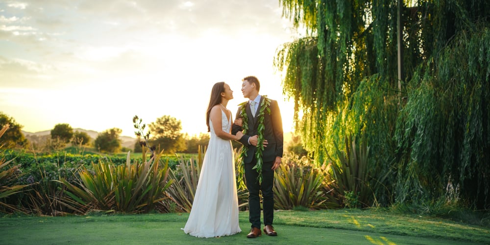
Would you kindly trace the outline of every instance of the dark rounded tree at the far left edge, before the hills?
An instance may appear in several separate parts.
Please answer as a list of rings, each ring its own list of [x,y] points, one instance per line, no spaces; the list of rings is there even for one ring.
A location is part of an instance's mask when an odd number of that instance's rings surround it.
[[[27,140],[22,133],[22,125],[15,122],[15,119],[9,117],[7,114],[0,112],[0,128],[3,128],[6,124],[9,124],[9,128],[1,137],[1,142],[5,148],[8,147],[25,147]]]

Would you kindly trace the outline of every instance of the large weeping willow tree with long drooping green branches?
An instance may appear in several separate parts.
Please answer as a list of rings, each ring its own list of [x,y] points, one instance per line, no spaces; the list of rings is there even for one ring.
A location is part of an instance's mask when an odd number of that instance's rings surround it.
[[[401,91],[397,0],[279,2],[307,30],[279,47],[274,65],[295,101],[296,130],[318,163],[344,135],[362,135],[374,152],[366,184],[384,181],[367,201],[435,200],[451,187],[454,199],[489,203],[490,184],[482,181],[490,162],[483,153],[490,145],[485,0],[403,2]],[[457,62],[462,53],[466,65]],[[470,185],[476,190],[468,192]]]

